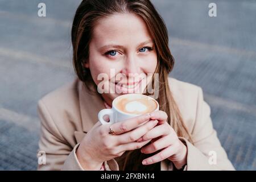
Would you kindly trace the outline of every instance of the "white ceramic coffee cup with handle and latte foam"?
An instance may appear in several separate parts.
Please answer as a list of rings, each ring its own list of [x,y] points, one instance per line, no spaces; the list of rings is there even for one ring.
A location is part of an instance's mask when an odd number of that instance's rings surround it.
[[[143,111],[141,111],[141,110],[139,110],[139,111],[138,110],[134,110],[134,112],[137,112],[137,114],[131,114],[131,113],[128,113],[128,112],[125,112],[125,111],[122,111],[122,110],[118,109],[117,104],[118,104],[119,101],[121,101],[123,99],[133,100],[133,101],[130,101],[130,102],[133,102],[133,105],[131,105],[131,106],[135,106],[135,107],[137,105],[137,102],[139,102],[137,100],[145,100],[145,101],[146,100],[150,100],[150,102],[154,101],[156,106],[154,107],[155,108],[154,110],[151,109],[151,112],[159,110],[158,102],[154,98],[152,98],[152,97],[145,96],[143,94],[125,94],[125,95],[122,95],[122,96],[118,96],[117,98],[115,98],[113,100],[113,102],[112,102],[112,109],[102,109],[98,113],[98,119],[102,123],[102,125],[113,124],[113,123],[125,121],[126,119],[137,117],[138,115],[146,114],[146,113],[143,113]],[[141,105],[139,105],[138,109],[141,109],[141,108],[144,108],[144,106],[141,107]],[[140,111],[141,111],[141,113],[139,114]],[[106,122],[104,120],[104,116],[105,115],[109,115],[109,120],[110,120],[109,122]]]

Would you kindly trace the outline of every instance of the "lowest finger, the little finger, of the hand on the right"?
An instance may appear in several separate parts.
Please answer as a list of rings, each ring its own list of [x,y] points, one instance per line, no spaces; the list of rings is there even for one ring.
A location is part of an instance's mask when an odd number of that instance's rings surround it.
[[[172,150],[172,147],[170,146],[170,147],[164,148],[164,150],[160,151],[158,154],[155,154],[150,158],[144,159],[142,161],[142,164],[149,165],[149,164],[158,163],[164,159],[169,158],[172,155],[174,155],[174,150]]]

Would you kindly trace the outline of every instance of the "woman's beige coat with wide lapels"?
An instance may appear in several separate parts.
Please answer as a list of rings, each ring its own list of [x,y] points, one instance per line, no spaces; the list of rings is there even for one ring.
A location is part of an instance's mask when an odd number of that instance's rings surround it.
[[[203,99],[202,89],[174,78],[169,78],[168,82],[194,142],[192,145],[180,137],[188,148],[185,170],[233,170],[213,129],[210,107]],[[98,121],[98,111],[104,108],[101,97],[89,94],[77,79],[43,97],[38,102],[41,121],[38,151],[46,152],[46,164],[38,165],[38,169],[83,170],[77,160],[76,148]],[[209,163],[212,161],[210,151],[216,154],[216,164]],[[104,162],[104,165],[107,170],[119,169],[115,159]],[[170,160],[161,162],[161,170],[172,169]]]

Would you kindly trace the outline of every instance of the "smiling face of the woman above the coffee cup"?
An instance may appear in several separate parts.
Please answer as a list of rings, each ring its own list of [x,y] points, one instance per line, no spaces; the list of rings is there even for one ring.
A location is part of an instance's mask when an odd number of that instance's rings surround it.
[[[85,67],[98,89],[104,83],[102,97],[108,104],[120,94],[142,93],[156,64],[154,43],[140,16],[114,14],[97,21]]]

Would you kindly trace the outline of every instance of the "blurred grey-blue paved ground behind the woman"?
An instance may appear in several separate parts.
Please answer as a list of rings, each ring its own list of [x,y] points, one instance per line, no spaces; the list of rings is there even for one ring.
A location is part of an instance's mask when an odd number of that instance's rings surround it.
[[[36,103],[75,77],[69,32],[78,0],[0,1],[0,169],[34,170]],[[200,85],[213,125],[238,170],[256,169],[256,1],[154,2],[176,59],[171,76]]]

